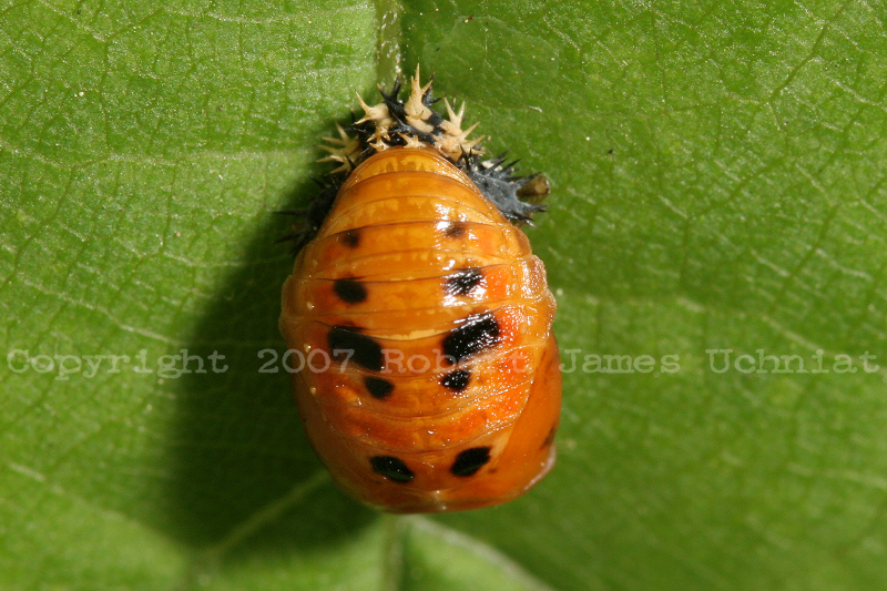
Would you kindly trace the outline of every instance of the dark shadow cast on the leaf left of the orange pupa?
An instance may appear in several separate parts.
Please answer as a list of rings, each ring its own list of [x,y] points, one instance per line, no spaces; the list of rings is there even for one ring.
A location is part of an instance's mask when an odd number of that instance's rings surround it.
[[[286,206],[315,192],[306,180]],[[185,374],[179,384],[164,529],[195,548],[225,547],[235,538],[238,556],[310,548],[347,536],[375,516],[319,476],[324,467],[303,432],[281,363],[286,350],[277,329],[281,288],[293,261],[288,246],[274,241],[288,224],[269,216],[187,346],[206,373]],[[224,355],[215,368],[214,351]],[[263,366],[276,373],[259,371]],[[299,486],[305,495],[294,495]]]

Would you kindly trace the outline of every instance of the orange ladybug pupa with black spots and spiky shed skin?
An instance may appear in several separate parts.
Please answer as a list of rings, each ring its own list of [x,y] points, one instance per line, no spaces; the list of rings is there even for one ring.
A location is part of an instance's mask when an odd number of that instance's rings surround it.
[[[400,513],[490,507],[554,463],[555,303],[514,223],[540,176],[483,160],[465,104],[381,92],[326,139],[322,182],[283,289],[281,332],[308,439],[334,479]],[[528,198],[528,201],[523,201]]]

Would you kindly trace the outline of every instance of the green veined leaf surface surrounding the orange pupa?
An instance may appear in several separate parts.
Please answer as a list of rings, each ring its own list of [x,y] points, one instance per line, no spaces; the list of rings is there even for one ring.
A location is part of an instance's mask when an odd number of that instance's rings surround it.
[[[0,2],[0,589],[887,585],[887,10],[549,4]],[[564,409],[526,497],[388,517],[273,212],[417,63],[551,182]]]

